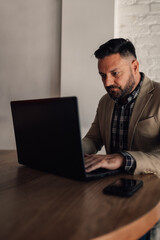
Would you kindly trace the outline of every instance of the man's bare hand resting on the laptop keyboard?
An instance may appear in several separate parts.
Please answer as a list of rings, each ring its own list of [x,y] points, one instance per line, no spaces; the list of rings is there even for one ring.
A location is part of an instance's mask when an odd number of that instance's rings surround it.
[[[98,168],[106,168],[109,170],[115,170],[122,167],[125,164],[125,157],[119,153],[113,153],[108,155],[102,154],[85,154],[85,170],[91,172]]]

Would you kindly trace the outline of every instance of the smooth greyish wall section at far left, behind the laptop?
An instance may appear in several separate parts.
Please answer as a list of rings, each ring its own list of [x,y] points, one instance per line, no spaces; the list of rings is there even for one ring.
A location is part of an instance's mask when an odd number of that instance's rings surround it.
[[[10,101],[58,96],[61,0],[0,0],[0,149],[15,148]]]

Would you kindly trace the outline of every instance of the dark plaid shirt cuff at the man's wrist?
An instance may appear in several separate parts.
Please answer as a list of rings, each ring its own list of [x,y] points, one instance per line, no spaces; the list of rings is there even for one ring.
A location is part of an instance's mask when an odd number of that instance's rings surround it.
[[[130,174],[134,173],[136,160],[128,152],[120,152],[126,159],[124,170]]]

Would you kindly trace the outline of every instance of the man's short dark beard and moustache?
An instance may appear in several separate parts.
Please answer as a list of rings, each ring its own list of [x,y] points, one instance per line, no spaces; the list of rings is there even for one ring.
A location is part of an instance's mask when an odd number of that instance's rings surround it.
[[[135,79],[134,79],[134,77],[131,73],[131,75],[128,79],[128,82],[125,85],[124,89],[122,89],[120,86],[115,86],[115,85],[105,87],[105,89],[113,100],[119,101],[123,97],[125,97],[126,95],[131,93],[134,85],[135,85]],[[119,91],[118,92],[114,91],[114,89],[119,89]]]

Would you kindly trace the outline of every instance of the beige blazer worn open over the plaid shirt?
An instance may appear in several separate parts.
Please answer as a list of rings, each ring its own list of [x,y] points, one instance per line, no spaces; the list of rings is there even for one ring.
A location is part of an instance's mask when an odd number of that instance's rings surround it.
[[[94,122],[82,139],[84,153],[97,153],[104,145],[111,152],[111,121],[114,101],[104,95]],[[136,99],[128,129],[128,149],[136,160],[134,174],[153,173],[160,176],[160,83],[144,77]]]

